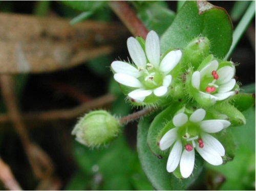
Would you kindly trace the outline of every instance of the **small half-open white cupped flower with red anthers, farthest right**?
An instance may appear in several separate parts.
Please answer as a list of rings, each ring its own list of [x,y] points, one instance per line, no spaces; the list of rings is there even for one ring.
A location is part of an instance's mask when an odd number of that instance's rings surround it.
[[[213,60],[200,71],[193,73],[191,84],[199,90],[202,98],[209,98],[215,103],[235,94],[231,91],[236,85],[236,80],[233,79],[234,74],[234,66],[226,65],[219,68],[218,61]]]

